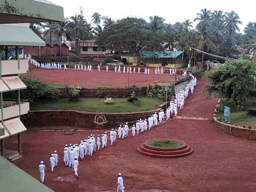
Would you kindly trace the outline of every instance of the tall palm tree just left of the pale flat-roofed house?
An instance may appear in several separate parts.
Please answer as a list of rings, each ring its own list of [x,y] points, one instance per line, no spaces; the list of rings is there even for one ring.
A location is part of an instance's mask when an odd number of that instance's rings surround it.
[[[70,19],[71,19],[71,22],[68,24],[69,33],[73,39],[75,38],[76,47],[77,47],[78,38],[86,38],[89,36],[90,25],[88,25],[87,21],[84,19],[82,15],[78,15],[78,16],[75,15],[70,17]],[[77,54],[76,49],[75,49],[75,54]]]

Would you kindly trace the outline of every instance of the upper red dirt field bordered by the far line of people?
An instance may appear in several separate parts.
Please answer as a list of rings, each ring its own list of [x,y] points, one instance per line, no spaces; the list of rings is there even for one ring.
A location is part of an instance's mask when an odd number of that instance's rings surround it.
[[[92,72],[75,70],[69,68],[68,70],[58,69],[39,69],[32,65],[32,76],[44,78],[41,81],[50,83],[68,83],[76,84],[81,87],[97,86],[97,85],[127,85],[128,86],[128,73],[115,73],[114,70],[105,70],[105,67],[101,67],[101,72],[97,72],[96,69],[92,69]],[[145,67],[140,67],[140,74],[138,74],[138,67],[136,67],[136,73],[129,74],[129,86],[135,84],[136,86],[152,84],[152,82],[166,81],[165,75],[154,75],[153,80],[153,68],[150,69],[150,75],[144,75]],[[30,73],[30,69],[27,71]],[[161,72],[161,71],[160,71]],[[98,84],[97,84],[98,73]],[[178,75],[179,76],[179,75]],[[168,75],[168,81],[175,81],[174,75]]]

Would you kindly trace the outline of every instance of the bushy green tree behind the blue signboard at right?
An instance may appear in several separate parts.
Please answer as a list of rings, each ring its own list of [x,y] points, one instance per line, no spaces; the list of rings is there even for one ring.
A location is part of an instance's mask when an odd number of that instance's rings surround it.
[[[224,101],[233,99],[240,107],[249,93],[256,90],[255,61],[255,59],[226,61],[224,66],[206,72],[209,85],[204,86],[202,91],[204,97],[211,99],[213,94]]]

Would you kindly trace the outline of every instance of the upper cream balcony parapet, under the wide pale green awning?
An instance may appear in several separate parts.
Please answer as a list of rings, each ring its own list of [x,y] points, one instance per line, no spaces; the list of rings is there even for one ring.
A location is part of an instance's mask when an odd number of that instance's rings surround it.
[[[21,59],[20,69],[18,69],[18,60],[2,60],[2,75],[12,75],[27,73],[29,65],[26,59]]]

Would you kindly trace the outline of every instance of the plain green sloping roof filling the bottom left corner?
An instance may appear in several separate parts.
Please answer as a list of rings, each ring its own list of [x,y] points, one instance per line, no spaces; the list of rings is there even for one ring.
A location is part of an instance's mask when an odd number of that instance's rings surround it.
[[[1,191],[53,192],[52,189],[40,183],[40,181],[36,180],[34,177],[30,176],[2,156],[0,156],[0,173]],[[39,171],[38,178],[40,178]]]

